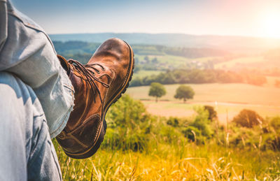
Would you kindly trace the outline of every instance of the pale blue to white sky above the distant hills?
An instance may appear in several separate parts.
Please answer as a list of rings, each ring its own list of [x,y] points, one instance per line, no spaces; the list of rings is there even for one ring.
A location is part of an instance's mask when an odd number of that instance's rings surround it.
[[[280,0],[12,0],[48,34],[180,33],[280,38]]]

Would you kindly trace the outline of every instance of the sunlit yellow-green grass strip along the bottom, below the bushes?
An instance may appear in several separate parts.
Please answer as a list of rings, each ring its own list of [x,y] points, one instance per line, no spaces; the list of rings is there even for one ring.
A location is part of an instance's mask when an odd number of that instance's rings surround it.
[[[279,152],[179,143],[151,152],[101,149],[77,160],[55,147],[64,180],[279,180]]]

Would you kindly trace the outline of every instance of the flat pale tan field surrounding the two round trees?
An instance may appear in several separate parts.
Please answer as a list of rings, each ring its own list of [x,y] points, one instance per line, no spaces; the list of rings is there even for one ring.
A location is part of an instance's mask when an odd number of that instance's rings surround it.
[[[280,115],[280,89],[271,85],[258,87],[247,84],[215,83],[190,86],[195,90],[195,96],[187,103],[174,99],[179,85],[165,85],[167,94],[158,103],[155,103],[153,97],[148,96],[148,86],[130,87],[127,94],[141,100],[148,112],[167,117],[188,117],[194,113],[193,106],[199,105],[214,106],[219,120],[223,123],[232,120],[244,108],[255,110],[263,117]]]

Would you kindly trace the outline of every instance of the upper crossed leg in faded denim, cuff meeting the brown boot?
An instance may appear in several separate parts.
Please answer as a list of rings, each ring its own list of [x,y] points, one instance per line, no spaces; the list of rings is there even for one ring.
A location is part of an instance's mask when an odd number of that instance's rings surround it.
[[[15,73],[34,90],[54,138],[73,108],[71,81],[43,29],[6,0],[0,10],[0,71]]]

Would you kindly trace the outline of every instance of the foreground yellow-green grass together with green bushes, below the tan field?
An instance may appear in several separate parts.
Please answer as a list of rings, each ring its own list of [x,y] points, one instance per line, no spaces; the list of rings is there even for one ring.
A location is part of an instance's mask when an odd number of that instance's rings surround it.
[[[124,96],[106,116],[93,157],[71,159],[53,140],[64,180],[280,180],[279,117],[254,129],[225,129],[196,111],[193,120],[167,120]]]

